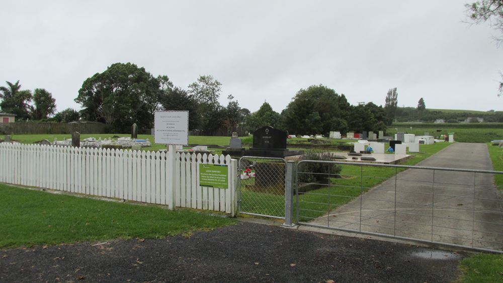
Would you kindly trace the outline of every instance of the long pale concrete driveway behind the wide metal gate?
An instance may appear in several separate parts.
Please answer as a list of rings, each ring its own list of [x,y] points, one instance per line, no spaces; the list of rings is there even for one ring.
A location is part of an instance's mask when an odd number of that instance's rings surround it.
[[[486,144],[477,143],[454,143],[417,165],[492,170]],[[503,250],[502,202],[493,180],[492,174],[407,169],[311,223]]]

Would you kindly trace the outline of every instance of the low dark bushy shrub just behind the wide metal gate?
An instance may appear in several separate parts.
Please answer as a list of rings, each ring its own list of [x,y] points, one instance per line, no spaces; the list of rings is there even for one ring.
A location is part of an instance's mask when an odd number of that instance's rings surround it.
[[[333,161],[335,159],[330,152],[309,149],[304,151],[300,160]],[[333,163],[303,162],[297,168],[298,181],[302,183],[326,181],[328,173],[330,173],[330,177],[340,177],[341,170],[341,166]]]

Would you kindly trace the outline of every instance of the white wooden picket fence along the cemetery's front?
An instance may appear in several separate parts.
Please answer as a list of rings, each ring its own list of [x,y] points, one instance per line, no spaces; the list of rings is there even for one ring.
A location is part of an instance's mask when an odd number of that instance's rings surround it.
[[[0,182],[235,215],[237,161],[176,154],[175,194],[165,152],[0,143]],[[228,188],[199,185],[199,164],[228,168]]]

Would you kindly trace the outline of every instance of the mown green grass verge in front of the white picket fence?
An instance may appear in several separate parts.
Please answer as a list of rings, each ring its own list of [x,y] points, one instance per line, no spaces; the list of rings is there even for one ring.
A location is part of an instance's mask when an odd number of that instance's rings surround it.
[[[0,184],[0,248],[115,238],[162,238],[231,225],[233,219],[49,194]]]

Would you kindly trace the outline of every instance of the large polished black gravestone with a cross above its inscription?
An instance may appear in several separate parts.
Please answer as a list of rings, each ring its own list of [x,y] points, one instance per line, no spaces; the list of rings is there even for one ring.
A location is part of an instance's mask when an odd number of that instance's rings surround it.
[[[287,132],[264,126],[253,133],[253,146],[244,151],[244,155],[279,157],[300,155],[303,152],[286,148]]]

